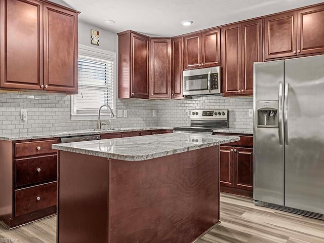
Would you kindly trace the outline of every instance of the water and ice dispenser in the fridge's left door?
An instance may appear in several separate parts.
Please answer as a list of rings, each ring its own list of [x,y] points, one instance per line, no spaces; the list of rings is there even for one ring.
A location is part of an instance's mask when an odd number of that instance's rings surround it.
[[[257,127],[277,128],[278,127],[278,101],[263,100],[257,101]]]

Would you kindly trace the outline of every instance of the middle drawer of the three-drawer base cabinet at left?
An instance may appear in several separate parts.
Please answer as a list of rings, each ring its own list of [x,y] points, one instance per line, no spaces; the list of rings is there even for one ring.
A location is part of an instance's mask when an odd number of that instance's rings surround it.
[[[56,179],[56,155],[16,159],[16,186]]]

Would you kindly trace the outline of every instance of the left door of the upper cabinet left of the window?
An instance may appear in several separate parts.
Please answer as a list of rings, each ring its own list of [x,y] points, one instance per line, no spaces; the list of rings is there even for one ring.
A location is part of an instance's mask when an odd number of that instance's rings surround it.
[[[1,0],[0,4],[0,86],[42,90],[43,4],[34,0]]]

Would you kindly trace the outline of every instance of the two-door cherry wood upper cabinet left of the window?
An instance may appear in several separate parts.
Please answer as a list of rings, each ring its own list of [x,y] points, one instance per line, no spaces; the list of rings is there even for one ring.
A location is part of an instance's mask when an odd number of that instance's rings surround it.
[[[78,12],[36,0],[0,9],[0,88],[77,93]]]

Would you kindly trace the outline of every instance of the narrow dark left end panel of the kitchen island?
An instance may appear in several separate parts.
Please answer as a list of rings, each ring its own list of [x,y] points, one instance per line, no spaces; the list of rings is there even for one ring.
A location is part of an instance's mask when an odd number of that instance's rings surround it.
[[[59,151],[57,242],[107,242],[108,159]]]

